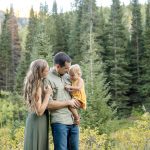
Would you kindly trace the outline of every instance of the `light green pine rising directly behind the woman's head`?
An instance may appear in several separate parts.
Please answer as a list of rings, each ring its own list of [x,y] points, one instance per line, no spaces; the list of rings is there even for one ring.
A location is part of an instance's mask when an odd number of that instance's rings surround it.
[[[45,8],[46,7],[46,8]],[[52,46],[47,33],[48,8],[47,4],[40,6],[36,34],[32,45],[31,60],[43,58],[52,65]]]

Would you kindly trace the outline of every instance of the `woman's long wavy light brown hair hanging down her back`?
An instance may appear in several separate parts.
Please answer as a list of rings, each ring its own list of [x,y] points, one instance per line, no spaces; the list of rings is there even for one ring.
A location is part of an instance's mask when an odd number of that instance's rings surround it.
[[[29,71],[24,80],[24,99],[30,111],[35,112],[34,98],[37,89],[42,85],[42,73],[48,66],[47,61],[37,59],[30,64]]]

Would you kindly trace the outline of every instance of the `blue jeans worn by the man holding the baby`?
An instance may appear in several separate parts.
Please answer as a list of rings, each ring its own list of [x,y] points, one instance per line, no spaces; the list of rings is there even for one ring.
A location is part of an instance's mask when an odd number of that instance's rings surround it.
[[[79,127],[53,123],[52,135],[54,150],[79,150]]]

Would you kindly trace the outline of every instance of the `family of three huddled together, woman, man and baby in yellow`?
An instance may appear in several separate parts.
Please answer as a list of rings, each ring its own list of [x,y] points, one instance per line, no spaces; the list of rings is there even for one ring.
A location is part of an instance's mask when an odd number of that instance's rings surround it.
[[[77,109],[86,109],[81,76],[80,66],[71,66],[71,58],[64,52],[54,56],[51,69],[43,59],[30,64],[24,81],[24,98],[29,109],[24,150],[49,150],[49,118],[54,149],[79,149]]]

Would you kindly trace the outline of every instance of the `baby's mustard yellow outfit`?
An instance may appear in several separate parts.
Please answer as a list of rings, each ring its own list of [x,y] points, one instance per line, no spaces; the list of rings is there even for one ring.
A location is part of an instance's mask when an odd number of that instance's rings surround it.
[[[72,81],[72,86],[77,86],[77,84],[78,84],[78,80]],[[71,92],[71,95],[74,99],[77,99],[82,103],[81,108],[86,109],[86,94],[85,94],[84,82],[82,88],[80,90]]]

